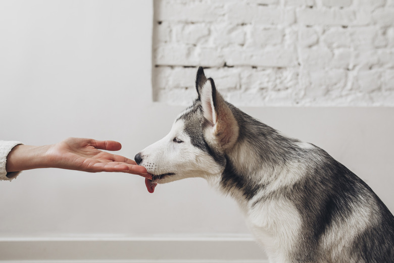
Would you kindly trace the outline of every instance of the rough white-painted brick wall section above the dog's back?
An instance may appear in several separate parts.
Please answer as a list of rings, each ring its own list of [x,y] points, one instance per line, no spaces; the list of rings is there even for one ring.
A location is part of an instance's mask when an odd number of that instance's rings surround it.
[[[394,106],[394,0],[154,0],[155,101]]]

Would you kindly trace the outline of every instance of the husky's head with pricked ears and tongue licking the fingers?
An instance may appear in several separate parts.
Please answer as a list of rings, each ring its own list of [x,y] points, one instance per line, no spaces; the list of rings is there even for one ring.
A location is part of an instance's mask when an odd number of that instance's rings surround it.
[[[227,103],[207,79],[202,67],[195,80],[198,93],[189,108],[175,120],[163,139],[135,155],[138,165],[153,175],[145,180],[148,191],[157,183],[188,177],[215,180],[223,172],[225,154],[238,138],[238,124]]]

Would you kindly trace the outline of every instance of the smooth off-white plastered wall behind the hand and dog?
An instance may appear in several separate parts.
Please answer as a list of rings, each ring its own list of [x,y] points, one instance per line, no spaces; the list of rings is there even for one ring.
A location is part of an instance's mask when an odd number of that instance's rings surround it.
[[[164,136],[182,107],[152,102],[152,21],[150,1],[0,1],[0,138],[113,139],[132,158]],[[393,108],[243,109],[326,149],[394,211]],[[15,240],[248,235],[235,202],[202,179],[154,194],[128,174],[43,169],[0,182],[0,259],[26,252]]]

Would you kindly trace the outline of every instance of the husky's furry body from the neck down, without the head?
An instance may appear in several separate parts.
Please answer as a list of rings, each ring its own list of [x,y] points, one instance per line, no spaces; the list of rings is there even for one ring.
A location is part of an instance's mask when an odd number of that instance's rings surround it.
[[[394,262],[394,217],[364,181],[321,148],[229,107],[240,135],[221,185],[243,199],[272,262]]]

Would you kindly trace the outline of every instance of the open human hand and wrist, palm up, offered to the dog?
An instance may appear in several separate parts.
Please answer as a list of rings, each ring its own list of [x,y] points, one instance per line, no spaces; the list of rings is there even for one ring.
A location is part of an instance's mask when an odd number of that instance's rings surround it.
[[[124,156],[101,150],[120,150],[116,141],[68,138],[53,145],[17,145],[7,157],[7,171],[61,168],[84,172],[125,172],[151,178],[146,169]],[[19,160],[13,158],[18,157]]]

